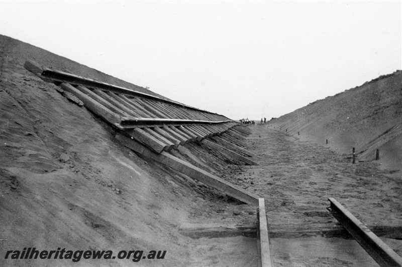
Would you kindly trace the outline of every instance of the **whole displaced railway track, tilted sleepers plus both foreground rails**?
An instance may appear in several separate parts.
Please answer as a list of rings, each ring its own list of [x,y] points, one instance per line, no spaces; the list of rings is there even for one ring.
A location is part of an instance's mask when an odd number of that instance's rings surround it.
[[[250,131],[223,115],[128,88],[99,82],[57,70],[42,68],[33,61],[24,67],[53,83],[118,130],[116,139],[145,157],[156,160],[245,203],[258,206],[257,246],[259,266],[273,266],[265,202],[244,189],[167,153],[196,140],[248,165],[258,165],[243,141]],[[329,211],[351,232],[380,266],[402,266],[402,259],[368,228],[350,216],[335,199]],[[381,243],[382,242],[382,243]]]

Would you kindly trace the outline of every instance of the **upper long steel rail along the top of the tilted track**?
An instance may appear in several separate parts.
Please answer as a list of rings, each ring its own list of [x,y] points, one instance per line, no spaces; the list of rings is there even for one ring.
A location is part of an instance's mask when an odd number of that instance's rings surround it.
[[[90,87],[90,88],[98,88],[101,90],[108,90],[108,91],[111,91],[111,92],[114,92],[117,94],[125,94],[125,95],[130,95],[130,96],[135,96],[135,97],[142,97],[142,98],[146,98],[146,99],[156,100],[156,101],[166,103],[166,104],[171,104],[171,105],[180,106],[180,107],[187,108],[187,109],[202,111],[205,113],[214,114],[214,115],[218,115],[218,116],[227,118],[226,116],[223,116],[223,115],[220,115],[220,114],[217,114],[214,112],[197,109],[197,108],[187,106],[187,105],[184,105],[179,102],[172,101],[172,100],[163,99],[163,98],[160,98],[157,96],[149,95],[146,93],[141,93],[141,92],[138,92],[138,91],[135,91],[132,89],[125,88],[125,87],[112,85],[112,84],[108,84],[108,83],[104,83],[104,82],[99,82],[99,81],[95,81],[95,80],[92,80],[89,78],[85,78],[85,77],[81,77],[78,75],[65,73],[65,72],[61,72],[61,71],[57,71],[57,70],[50,70],[48,68],[43,68],[43,71],[42,71],[42,73],[40,73],[40,76],[42,76],[44,79],[48,79],[48,80],[52,80],[52,81],[56,81],[56,82],[69,83],[72,85],[81,85],[81,86]],[[227,118],[227,119],[229,119],[229,118]]]

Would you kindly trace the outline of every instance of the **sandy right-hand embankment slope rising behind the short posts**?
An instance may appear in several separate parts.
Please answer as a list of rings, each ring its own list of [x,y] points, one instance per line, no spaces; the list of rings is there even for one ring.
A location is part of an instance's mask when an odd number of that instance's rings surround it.
[[[324,144],[359,161],[375,160],[382,168],[402,168],[402,71],[380,76],[269,121],[277,130]],[[328,144],[327,143],[328,140]]]

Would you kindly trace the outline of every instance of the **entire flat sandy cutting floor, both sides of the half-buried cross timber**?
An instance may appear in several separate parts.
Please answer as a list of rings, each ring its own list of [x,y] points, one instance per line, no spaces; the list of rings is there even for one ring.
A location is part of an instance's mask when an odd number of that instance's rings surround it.
[[[352,164],[328,147],[300,141],[267,124],[249,129],[247,144],[260,166],[244,166],[228,179],[266,199],[271,231],[289,233],[288,238],[271,238],[275,266],[376,266],[356,241],[322,237],[319,229],[338,224],[326,209],[328,197],[366,225],[399,227],[399,172],[381,170],[374,161]],[[245,213],[235,218],[250,219]],[[217,223],[222,218],[198,219]],[[311,229],[318,231],[311,233]],[[402,255],[402,241],[383,240]]]

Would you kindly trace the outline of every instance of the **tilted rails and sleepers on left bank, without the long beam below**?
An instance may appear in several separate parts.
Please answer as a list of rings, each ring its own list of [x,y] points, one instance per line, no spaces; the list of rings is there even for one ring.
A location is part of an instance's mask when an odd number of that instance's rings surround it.
[[[60,86],[126,136],[156,153],[190,140],[221,134],[238,123],[223,115],[89,78],[42,68],[33,61],[24,67]]]

